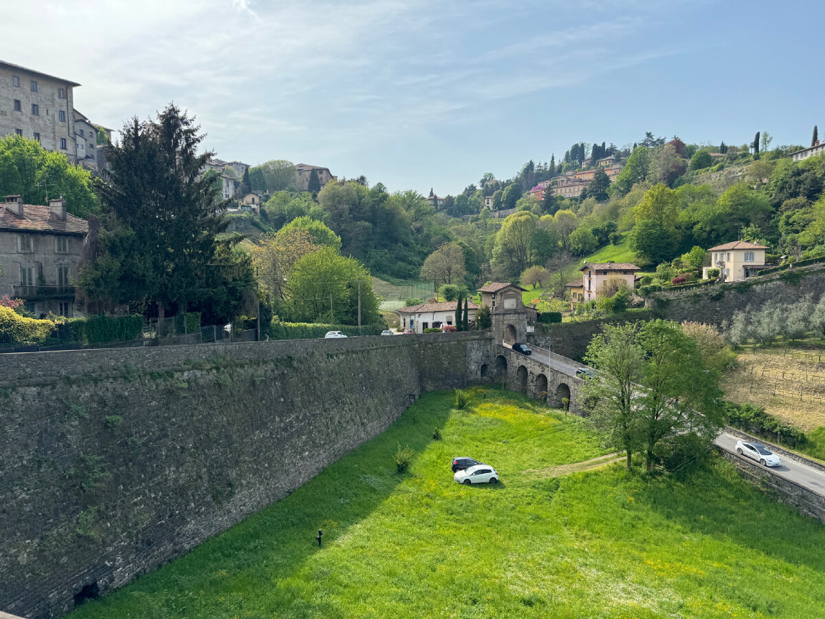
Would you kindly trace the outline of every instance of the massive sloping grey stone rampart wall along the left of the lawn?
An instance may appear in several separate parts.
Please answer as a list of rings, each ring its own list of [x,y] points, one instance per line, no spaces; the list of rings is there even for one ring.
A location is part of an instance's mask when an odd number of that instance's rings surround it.
[[[54,617],[167,563],[423,391],[479,378],[490,350],[434,333],[4,355],[0,610]]]

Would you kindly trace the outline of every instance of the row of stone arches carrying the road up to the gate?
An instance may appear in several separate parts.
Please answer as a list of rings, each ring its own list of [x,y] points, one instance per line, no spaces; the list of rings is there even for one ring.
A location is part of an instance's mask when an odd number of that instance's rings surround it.
[[[544,348],[532,347],[531,355],[515,352],[506,344],[498,346],[493,367],[482,374],[502,380],[507,389],[521,391],[530,398],[544,399],[557,409],[580,413],[579,389],[584,380],[576,376],[581,364]]]

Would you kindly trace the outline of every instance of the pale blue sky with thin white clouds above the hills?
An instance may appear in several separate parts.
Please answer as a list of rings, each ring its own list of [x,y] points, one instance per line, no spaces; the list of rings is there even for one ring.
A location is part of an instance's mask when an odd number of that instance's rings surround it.
[[[825,2],[5,0],[0,59],[118,129],[169,102],[219,158],[460,192],[576,142],[810,143]],[[33,36],[32,32],[37,35]]]

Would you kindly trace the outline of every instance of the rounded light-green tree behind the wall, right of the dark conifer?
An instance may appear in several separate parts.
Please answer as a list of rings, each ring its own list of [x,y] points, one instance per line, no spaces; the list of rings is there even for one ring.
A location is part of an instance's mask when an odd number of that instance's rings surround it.
[[[299,322],[357,324],[361,282],[361,324],[380,322],[372,277],[360,262],[324,247],[295,262],[285,284],[290,316]]]

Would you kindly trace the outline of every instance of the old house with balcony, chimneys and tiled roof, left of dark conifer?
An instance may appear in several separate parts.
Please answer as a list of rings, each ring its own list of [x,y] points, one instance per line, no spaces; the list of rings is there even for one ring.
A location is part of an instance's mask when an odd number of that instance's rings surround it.
[[[61,197],[49,206],[6,196],[0,206],[0,296],[26,301],[35,315],[76,316],[73,278],[88,223],[66,212]]]

